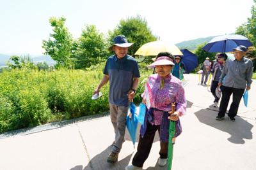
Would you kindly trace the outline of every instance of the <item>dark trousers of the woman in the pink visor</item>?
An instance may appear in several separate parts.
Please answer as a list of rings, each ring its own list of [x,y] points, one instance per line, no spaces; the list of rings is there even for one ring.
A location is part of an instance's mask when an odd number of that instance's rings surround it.
[[[143,138],[141,138],[140,136],[137,153],[132,159],[132,165],[143,167],[143,164],[150,153],[156,131],[160,132],[160,125],[147,124],[147,131],[145,132],[145,135],[143,136]],[[161,159],[167,159],[168,143],[160,142],[159,154]]]

